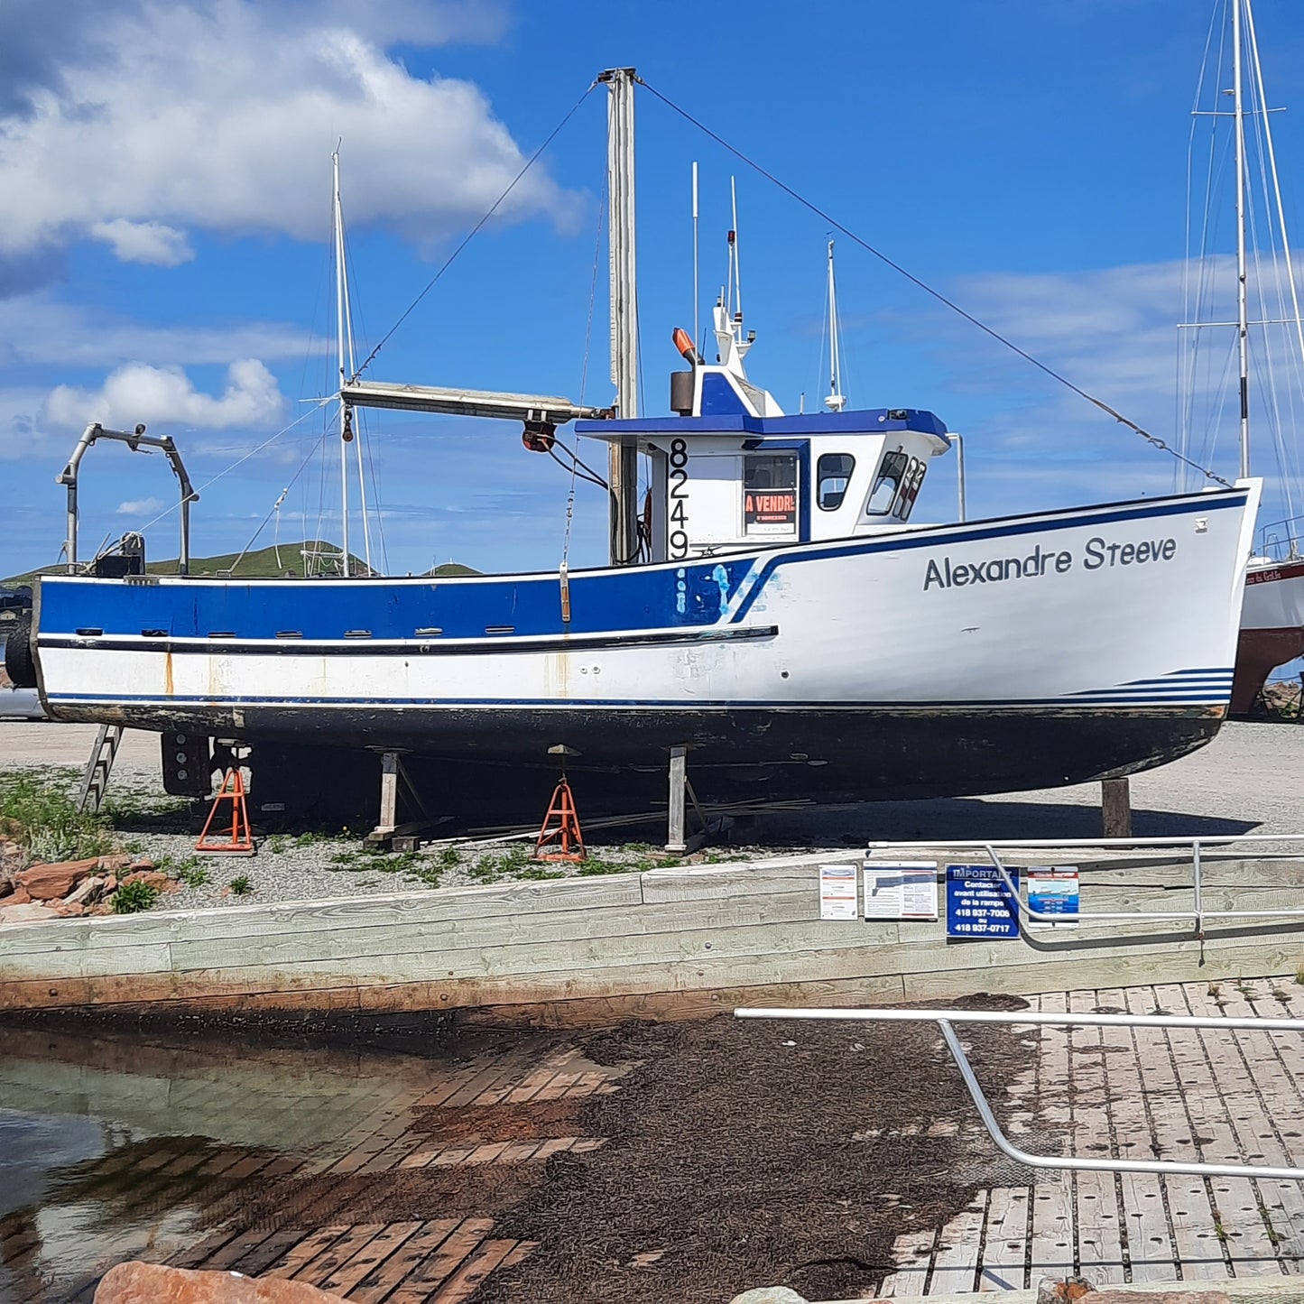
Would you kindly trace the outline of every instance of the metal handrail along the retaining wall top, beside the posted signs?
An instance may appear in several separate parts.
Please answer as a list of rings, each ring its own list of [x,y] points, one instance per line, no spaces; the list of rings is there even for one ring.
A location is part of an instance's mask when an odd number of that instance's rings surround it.
[[[1024,922],[1030,921],[1034,923],[1090,923],[1093,921],[1151,921],[1151,922],[1172,922],[1180,919],[1191,919],[1194,925],[1194,935],[1197,938],[1204,936],[1205,921],[1206,919],[1295,919],[1304,918],[1304,908],[1290,909],[1287,906],[1279,906],[1273,910],[1206,910],[1204,908],[1204,859],[1202,849],[1208,844],[1215,844],[1218,846],[1226,846],[1231,842],[1286,842],[1286,844],[1304,844],[1304,835],[1300,833],[1232,833],[1215,838],[1200,838],[1200,837],[1102,837],[1102,838],[1017,838],[1008,842],[992,842],[992,841],[955,841],[955,842],[871,842],[868,844],[868,852],[883,852],[883,850],[898,850],[910,849],[918,853],[921,849],[927,848],[928,850],[944,852],[948,849],[957,850],[982,850],[987,854],[987,859],[991,862],[992,868],[999,875],[1001,884],[1009,895],[1012,902],[1016,921],[1018,922],[1020,932],[1024,932]],[[996,854],[996,848],[1026,848],[1029,850],[1035,849],[1050,849],[1050,848],[1076,848],[1076,846],[1189,846],[1191,848],[1191,871],[1192,871],[1192,892],[1194,896],[1193,904],[1189,910],[1091,910],[1084,911],[1077,910],[1072,914],[1069,913],[1055,913],[1048,914],[1042,910],[1034,910],[1024,898],[1020,896],[1018,888],[1015,880],[1011,878],[1009,870],[1001,858]],[[1299,854],[1292,857],[1295,859],[1301,858]],[[1077,867],[1078,871],[1082,866]],[[1091,868],[1086,866],[1086,868]],[[1103,868],[1103,866],[1102,866]]]

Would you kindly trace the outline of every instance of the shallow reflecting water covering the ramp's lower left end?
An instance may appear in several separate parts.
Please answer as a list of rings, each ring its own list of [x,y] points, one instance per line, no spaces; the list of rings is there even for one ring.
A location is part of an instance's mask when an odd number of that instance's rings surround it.
[[[312,1226],[326,1170],[349,1171],[359,1145],[402,1136],[434,1086],[503,1054],[428,1030],[398,1041],[0,1026],[0,1301],[89,1300],[115,1262],[184,1262],[282,1189],[300,1192]],[[279,1226],[275,1209],[249,1217],[263,1235]],[[279,1244],[267,1241],[267,1266]]]

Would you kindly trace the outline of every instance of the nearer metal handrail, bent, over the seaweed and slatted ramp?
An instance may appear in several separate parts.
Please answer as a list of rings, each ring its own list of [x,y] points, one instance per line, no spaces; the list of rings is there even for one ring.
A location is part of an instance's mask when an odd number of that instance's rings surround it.
[[[1060,917],[1063,918],[1063,917]],[[1185,1015],[1047,1015],[1039,1011],[1008,1013],[991,1009],[735,1009],[735,1018],[814,1018],[855,1020],[861,1022],[936,1024],[941,1039],[978,1108],[978,1116],[996,1148],[1011,1159],[1030,1168],[1060,1168],[1076,1172],[1153,1172],[1196,1178],[1261,1178],[1265,1180],[1301,1181],[1304,1168],[1269,1168],[1260,1164],[1183,1163],[1175,1159],[1088,1159],[1078,1155],[1033,1154],[1015,1145],[1001,1131],[965,1055],[952,1024],[1029,1024],[1056,1028],[1164,1028],[1164,1029],[1235,1029],[1271,1033],[1304,1033],[1304,1020],[1295,1018],[1205,1018]]]

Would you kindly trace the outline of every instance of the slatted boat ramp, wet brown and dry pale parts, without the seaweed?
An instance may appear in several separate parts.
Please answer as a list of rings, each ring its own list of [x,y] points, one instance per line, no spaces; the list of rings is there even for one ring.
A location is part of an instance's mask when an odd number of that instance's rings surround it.
[[[1304,988],[1294,978],[1077,988],[1045,994],[1033,1005],[1059,1012],[1281,1017],[1283,1009],[1304,1005]],[[1304,1162],[1304,1038],[1219,1030],[1043,1031],[1026,1072],[1008,1085],[1016,1099],[1009,1127],[1025,1142],[1060,1146],[1058,1153],[1124,1158]],[[0,1108],[22,1102],[30,1089],[22,1065],[30,1056],[59,1054],[56,1042],[43,1031],[7,1037]],[[210,1119],[266,1107],[250,1097],[239,1068],[207,1071],[201,1084],[185,1077],[185,1064],[175,1058],[155,1063],[151,1056],[159,1054],[146,1047],[136,1069],[172,1074],[173,1107],[196,1091],[207,1102]],[[565,1041],[527,1035],[506,1052],[499,1047],[443,1069],[428,1065],[419,1082],[399,1064],[390,1081],[373,1084],[364,1108],[356,1086],[346,1088],[343,1077],[335,1081],[329,1063],[325,1069],[317,1065],[318,1089],[338,1095],[346,1120],[325,1150],[296,1157],[258,1145],[125,1145],[87,1170],[81,1187],[67,1196],[70,1208],[106,1201],[113,1215],[113,1239],[99,1245],[98,1260],[87,1265],[93,1270],[53,1288],[43,1235],[53,1235],[56,1224],[10,1214],[0,1219],[0,1297],[12,1304],[87,1301],[98,1275],[112,1262],[140,1257],[292,1278],[359,1304],[464,1304],[481,1284],[510,1273],[537,1249],[496,1223],[493,1204],[510,1200],[519,1180],[514,1174],[528,1170],[533,1181],[552,1155],[591,1153],[605,1144],[604,1137],[579,1134],[582,1129],[575,1134],[553,1129],[548,1140],[524,1136],[510,1125],[511,1110],[496,1107],[519,1106],[537,1116],[553,1102],[561,1116],[567,1102],[626,1090],[625,1073],[622,1067],[585,1060]],[[121,1090],[113,1085],[115,1074],[123,1077],[103,1059],[86,1063],[69,1071],[56,1098],[61,1091]],[[228,1097],[224,1106],[216,1099],[222,1091]],[[241,1102],[248,1106],[244,1111]],[[329,1101],[317,1107],[329,1110]],[[432,1110],[497,1119],[502,1131],[477,1123],[458,1144],[432,1144],[421,1124]],[[293,1140],[296,1127],[304,1125],[303,1112],[283,1104],[279,1120],[266,1125]],[[901,1235],[872,1295],[941,1299],[1022,1291],[1043,1277],[1072,1274],[1098,1286],[1231,1279],[1284,1288],[1284,1278],[1304,1273],[1299,1183],[1031,1175],[999,1159],[994,1163],[991,1144],[971,1111],[934,1127],[957,1133],[961,1153],[996,1180],[986,1181],[944,1226]],[[902,1140],[909,1144],[909,1137]],[[437,1215],[413,1194],[425,1181],[469,1194]],[[207,1192],[209,1230],[168,1224],[167,1211],[193,1201],[197,1187]],[[891,1198],[892,1192],[883,1196]],[[485,1200],[482,1208],[475,1208],[477,1198]],[[156,1217],[133,1223],[133,1210],[150,1209]],[[147,1237],[132,1232],[145,1222]],[[659,1253],[648,1254],[648,1271]],[[675,1281],[674,1274],[668,1277],[666,1292],[657,1297],[677,1300]],[[738,1287],[760,1284],[765,1283]],[[1274,1290],[1271,1297],[1286,1296]],[[728,1294],[721,1304],[725,1299]]]

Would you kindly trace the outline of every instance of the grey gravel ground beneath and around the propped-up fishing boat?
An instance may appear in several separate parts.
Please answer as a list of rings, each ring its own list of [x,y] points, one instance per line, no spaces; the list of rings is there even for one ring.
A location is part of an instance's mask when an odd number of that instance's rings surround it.
[[[94,726],[0,721],[0,772],[39,769],[76,789]],[[645,842],[587,835],[583,866],[532,865],[527,841],[424,848],[378,855],[352,836],[274,835],[254,857],[197,857],[184,803],[167,797],[154,735],[128,734],[110,786],[113,823],[130,850],[167,862],[189,885],[168,909],[297,901],[510,879],[606,874],[675,865]],[[1191,756],[1132,778],[1137,836],[1304,832],[1295,777],[1304,772],[1304,726],[1235,722]],[[580,802],[583,795],[580,794]],[[583,810],[583,805],[580,806]],[[656,836],[640,829],[639,836]],[[755,859],[792,852],[836,850],[874,840],[1093,837],[1099,835],[1099,788],[1047,789],[1000,797],[925,802],[863,802],[852,807],[785,812],[739,824],[735,841],[690,857],[692,863]],[[756,841],[758,838],[763,841]],[[249,892],[232,891],[245,879]]]

